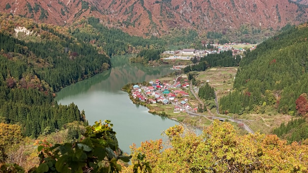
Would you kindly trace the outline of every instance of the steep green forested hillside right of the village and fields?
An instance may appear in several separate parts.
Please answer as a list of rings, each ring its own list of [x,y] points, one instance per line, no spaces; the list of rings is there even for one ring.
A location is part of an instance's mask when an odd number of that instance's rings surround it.
[[[308,93],[307,38],[307,24],[288,27],[248,50],[233,91],[220,99],[220,112],[243,114],[272,106],[279,113],[305,115],[307,94],[300,95]]]

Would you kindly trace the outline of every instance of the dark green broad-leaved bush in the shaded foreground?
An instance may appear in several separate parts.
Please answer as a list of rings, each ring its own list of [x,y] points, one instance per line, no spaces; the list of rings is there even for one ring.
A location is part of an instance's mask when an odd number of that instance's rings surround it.
[[[121,155],[110,121],[95,122],[87,127],[79,142],[52,145],[37,143],[40,164],[28,173],[119,173],[130,157]],[[24,173],[16,164],[2,164],[1,173]]]

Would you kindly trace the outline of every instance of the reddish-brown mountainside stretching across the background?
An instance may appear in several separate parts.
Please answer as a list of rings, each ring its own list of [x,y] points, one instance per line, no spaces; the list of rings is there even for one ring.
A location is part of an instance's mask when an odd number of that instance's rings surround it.
[[[94,16],[133,35],[161,36],[176,28],[244,34],[276,30],[307,22],[306,4],[305,0],[1,0],[0,11],[60,26]]]

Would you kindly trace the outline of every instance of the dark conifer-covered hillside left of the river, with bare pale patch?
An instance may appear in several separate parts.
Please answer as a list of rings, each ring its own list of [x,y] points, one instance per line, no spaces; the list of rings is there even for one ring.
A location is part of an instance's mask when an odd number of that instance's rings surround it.
[[[7,24],[0,32],[1,122],[20,124],[25,136],[35,138],[85,121],[73,103],[58,105],[55,91],[108,69],[110,59],[62,28],[1,17]]]

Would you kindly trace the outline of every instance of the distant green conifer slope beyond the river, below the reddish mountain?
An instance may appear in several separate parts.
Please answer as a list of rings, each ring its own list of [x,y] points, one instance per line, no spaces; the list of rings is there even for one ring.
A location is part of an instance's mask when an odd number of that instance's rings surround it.
[[[150,46],[159,49],[166,44],[166,41],[154,36],[151,39],[144,39],[140,36],[131,36],[120,29],[108,29],[94,17],[76,22],[70,30],[74,37],[94,44],[109,56],[137,53],[140,49]]]

